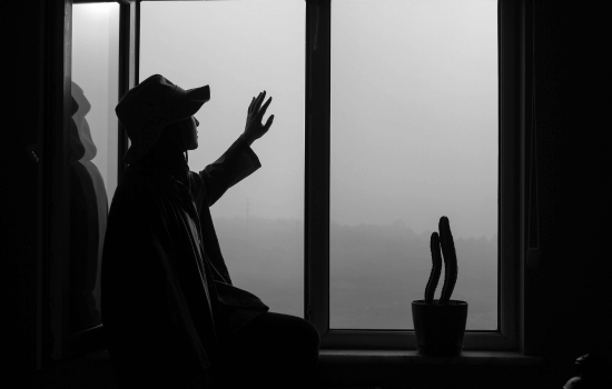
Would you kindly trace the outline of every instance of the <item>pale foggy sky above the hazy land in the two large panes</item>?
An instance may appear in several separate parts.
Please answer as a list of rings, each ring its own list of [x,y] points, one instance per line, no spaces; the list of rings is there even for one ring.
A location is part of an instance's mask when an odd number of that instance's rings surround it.
[[[211,208],[217,217],[302,219],[305,1],[144,2],[140,79],[210,84],[191,170],[244,130],[251,97],[275,122],[254,143],[263,168]],[[334,0],[332,220],[417,233],[442,215],[462,237],[497,223],[494,0]],[[248,202],[248,206],[247,206]]]

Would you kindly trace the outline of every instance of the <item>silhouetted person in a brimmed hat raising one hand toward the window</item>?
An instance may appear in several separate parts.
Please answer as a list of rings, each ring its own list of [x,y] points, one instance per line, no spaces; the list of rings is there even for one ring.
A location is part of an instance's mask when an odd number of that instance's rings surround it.
[[[316,329],[233,286],[209,211],[260,167],[250,144],[274,120],[261,124],[265,96],[200,172],[189,171],[187,151],[198,147],[193,114],[208,86],[182,90],[155,74],[116,108],[132,143],[108,219],[102,322],[121,387],[299,387],[314,375]]]

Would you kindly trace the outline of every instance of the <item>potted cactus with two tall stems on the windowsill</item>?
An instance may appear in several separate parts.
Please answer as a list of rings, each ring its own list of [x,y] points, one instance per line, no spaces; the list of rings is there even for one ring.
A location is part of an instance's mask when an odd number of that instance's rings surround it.
[[[467,302],[451,300],[457,281],[457,256],[447,217],[440,218],[438,230],[440,233],[432,233],[430,241],[433,266],[425,287],[425,299],[412,302],[412,313],[418,353],[453,357],[463,349]],[[434,299],[443,259],[444,285],[440,299]]]

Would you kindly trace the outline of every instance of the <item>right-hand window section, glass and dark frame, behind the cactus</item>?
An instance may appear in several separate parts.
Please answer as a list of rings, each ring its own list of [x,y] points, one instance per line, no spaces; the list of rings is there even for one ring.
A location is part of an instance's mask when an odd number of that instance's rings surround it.
[[[323,348],[416,348],[441,216],[464,349],[519,348],[520,7],[308,2],[307,312]]]

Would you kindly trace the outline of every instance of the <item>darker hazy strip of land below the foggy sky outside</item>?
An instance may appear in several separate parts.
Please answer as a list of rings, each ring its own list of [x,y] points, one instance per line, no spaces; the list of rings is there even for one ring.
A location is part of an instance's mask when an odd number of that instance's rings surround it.
[[[215,226],[234,285],[257,295],[273,311],[303,316],[304,225],[220,217]],[[330,252],[332,328],[412,329],[409,303],[423,299],[432,266],[428,233],[417,235],[402,223],[333,222],[330,231],[336,237]],[[452,298],[470,303],[468,330],[495,330],[497,241],[458,237],[455,247],[458,277]]]

